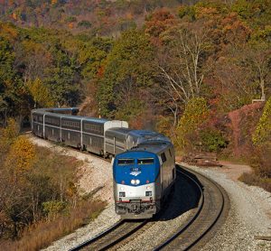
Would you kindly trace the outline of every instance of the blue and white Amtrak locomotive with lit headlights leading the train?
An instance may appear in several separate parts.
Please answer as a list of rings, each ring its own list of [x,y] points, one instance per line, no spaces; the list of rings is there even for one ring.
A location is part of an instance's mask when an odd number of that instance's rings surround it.
[[[152,218],[174,188],[173,144],[148,140],[113,162],[114,197],[122,218]]]

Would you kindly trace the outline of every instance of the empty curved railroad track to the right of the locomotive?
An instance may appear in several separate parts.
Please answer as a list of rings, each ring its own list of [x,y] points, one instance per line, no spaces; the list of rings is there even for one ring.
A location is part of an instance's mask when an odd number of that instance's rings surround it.
[[[180,165],[177,170],[194,183],[201,200],[192,217],[154,250],[198,250],[214,236],[229,213],[229,196],[218,183]]]

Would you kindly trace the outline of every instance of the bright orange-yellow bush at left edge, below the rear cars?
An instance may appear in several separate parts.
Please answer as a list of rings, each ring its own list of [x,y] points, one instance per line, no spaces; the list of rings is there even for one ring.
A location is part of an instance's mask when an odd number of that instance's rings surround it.
[[[34,145],[25,136],[19,136],[10,147],[5,166],[15,173],[27,172],[33,168],[35,158]]]

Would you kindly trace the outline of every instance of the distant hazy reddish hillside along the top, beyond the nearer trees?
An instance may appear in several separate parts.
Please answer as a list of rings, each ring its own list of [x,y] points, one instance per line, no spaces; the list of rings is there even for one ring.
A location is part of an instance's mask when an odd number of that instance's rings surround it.
[[[175,7],[178,0],[32,0],[1,1],[1,19],[21,26],[69,29],[73,33],[117,35],[142,25],[156,7]]]

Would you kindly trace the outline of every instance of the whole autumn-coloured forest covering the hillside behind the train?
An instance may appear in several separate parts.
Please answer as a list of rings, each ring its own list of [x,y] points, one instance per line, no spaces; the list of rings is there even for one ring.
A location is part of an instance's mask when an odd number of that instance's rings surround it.
[[[271,191],[271,2],[194,2],[0,1],[0,125],[81,106],[245,160]]]

